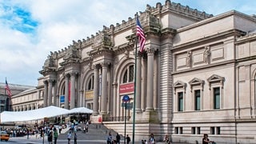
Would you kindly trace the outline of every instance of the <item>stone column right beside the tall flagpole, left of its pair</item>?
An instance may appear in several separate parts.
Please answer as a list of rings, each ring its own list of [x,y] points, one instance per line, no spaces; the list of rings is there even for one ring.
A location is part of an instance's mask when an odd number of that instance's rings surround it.
[[[142,112],[142,57],[137,54],[136,64],[136,112]]]

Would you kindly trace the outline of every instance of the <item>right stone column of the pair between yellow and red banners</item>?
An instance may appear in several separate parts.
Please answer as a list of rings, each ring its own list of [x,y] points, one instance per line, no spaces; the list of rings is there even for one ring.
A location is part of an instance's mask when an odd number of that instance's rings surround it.
[[[106,98],[107,98],[107,63],[102,63],[102,102],[101,102],[101,114],[106,114]]]

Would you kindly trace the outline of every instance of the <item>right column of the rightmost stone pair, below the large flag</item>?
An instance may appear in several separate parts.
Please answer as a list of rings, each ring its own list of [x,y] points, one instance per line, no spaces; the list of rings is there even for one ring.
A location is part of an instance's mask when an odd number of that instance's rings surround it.
[[[146,111],[154,110],[154,49],[147,50]]]

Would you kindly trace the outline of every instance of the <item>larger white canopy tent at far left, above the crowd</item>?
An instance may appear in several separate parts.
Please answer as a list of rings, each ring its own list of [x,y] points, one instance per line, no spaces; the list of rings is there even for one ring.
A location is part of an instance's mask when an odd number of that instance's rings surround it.
[[[1,123],[4,122],[25,122],[42,118],[51,118],[58,115],[71,114],[70,110],[57,106],[48,106],[37,110],[26,111],[3,111],[1,113]]]

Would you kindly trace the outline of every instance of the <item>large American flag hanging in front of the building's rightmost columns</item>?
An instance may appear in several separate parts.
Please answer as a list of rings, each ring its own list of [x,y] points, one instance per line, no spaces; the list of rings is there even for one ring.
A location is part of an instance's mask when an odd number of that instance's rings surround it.
[[[137,22],[136,22],[136,35],[138,36],[138,40],[139,40],[139,47],[140,47],[139,51],[142,52],[144,50],[146,38],[145,38],[144,30],[142,29],[141,23],[138,20],[138,16],[137,16]]]

